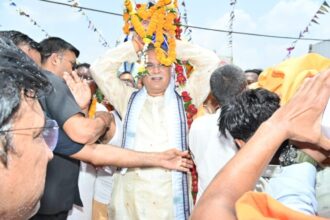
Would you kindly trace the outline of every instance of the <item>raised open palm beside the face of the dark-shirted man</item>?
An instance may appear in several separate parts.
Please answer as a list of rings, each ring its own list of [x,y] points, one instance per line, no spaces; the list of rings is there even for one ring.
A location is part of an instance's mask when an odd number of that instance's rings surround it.
[[[75,71],[64,72],[63,78],[82,110],[88,109],[92,94],[86,80],[81,80]]]

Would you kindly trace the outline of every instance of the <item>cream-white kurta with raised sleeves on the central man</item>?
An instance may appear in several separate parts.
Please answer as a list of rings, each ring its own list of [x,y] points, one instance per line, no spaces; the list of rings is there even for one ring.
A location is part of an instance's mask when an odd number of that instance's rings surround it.
[[[190,43],[177,42],[177,57],[189,60],[194,72],[185,88],[198,106],[209,93],[209,79],[217,67],[218,57],[211,51]],[[99,88],[125,117],[127,105],[134,89],[117,78],[117,70],[124,61],[137,59],[131,42],[111,49],[92,65],[92,74]],[[150,97],[142,107],[138,118],[134,149],[138,151],[160,152],[173,148],[169,146],[169,128],[165,117],[163,96]],[[114,176],[110,218],[131,219],[174,219],[172,174],[162,168],[128,169],[125,175]]]

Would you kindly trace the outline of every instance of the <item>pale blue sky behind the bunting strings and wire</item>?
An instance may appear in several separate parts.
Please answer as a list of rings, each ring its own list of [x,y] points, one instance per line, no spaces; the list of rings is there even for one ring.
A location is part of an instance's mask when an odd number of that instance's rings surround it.
[[[17,7],[10,6],[9,0],[0,3],[0,30],[19,30],[36,41],[45,38],[44,33],[16,9],[28,13],[50,35],[61,37],[75,45],[80,51],[80,62],[92,63],[105,53],[106,48],[99,42],[99,36],[88,29],[88,21],[77,9],[41,2],[38,0],[12,0]],[[58,2],[68,3],[65,0]],[[136,1],[144,2],[144,1]],[[181,2],[179,0],[179,2]],[[237,0],[234,31],[260,34],[298,36],[310,22],[323,0]],[[229,0],[186,0],[188,24],[215,29],[228,29],[231,7]],[[330,1],[329,1],[330,3]],[[80,6],[122,13],[122,0],[80,0]],[[182,10],[182,8],[181,8]],[[85,11],[95,27],[100,30],[111,47],[122,38],[121,17]],[[330,38],[330,13],[319,16],[317,24],[312,24],[309,38]],[[225,33],[192,29],[192,41],[212,49],[219,56],[228,56],[228,37]],[[276,65],[286,57],[286,48],[292,40],[233,36],[234,63],[243,69],[266,68]],[[313,41],[298,41],[292,56],[307,53]]]

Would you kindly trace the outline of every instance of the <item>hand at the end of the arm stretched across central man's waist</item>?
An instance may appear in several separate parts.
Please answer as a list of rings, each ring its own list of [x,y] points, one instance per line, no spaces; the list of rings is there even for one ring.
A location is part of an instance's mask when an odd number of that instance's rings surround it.
[[[193,167],[193,161],[188,151],[182,152],[177,149],[170,149],[160,154],[161,164],[165,169],[189,172],[189,169]]]

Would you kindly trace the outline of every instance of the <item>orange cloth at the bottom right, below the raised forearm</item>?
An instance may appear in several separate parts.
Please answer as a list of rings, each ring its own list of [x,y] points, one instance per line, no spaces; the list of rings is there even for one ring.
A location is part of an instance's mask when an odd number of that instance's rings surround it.
[[[236,202],[238,220],[322,220],[294,211],[266,193],[247,192]]]

